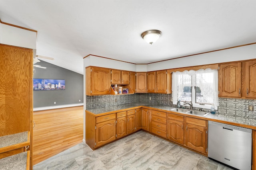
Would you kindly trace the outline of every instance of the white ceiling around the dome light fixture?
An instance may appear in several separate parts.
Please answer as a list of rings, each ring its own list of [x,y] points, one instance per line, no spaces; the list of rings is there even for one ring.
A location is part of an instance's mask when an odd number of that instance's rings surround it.
[[[89,54],[145,64],[256,42],[256,0],[0,0],[0,19],[38,31],[36,54],[80,74]],[[148,29],[162,31],[153,45]]]

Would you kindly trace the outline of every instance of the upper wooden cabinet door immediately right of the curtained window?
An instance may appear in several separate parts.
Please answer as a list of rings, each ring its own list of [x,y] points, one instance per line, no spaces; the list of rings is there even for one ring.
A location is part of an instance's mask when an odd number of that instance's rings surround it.
[[[219,67],[219,97],[241,97],[241,62]]]

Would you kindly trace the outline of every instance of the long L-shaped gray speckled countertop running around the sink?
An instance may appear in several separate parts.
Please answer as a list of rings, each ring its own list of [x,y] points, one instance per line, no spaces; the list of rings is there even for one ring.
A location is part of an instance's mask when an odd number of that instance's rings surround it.
[[[86,110],[95,115],[98,115],[102,113],[111,113],[111,112],[114,113],[118,110],[132,109],[132,107],[139,107],[139,106],[151,107],[152,109],[160,109],[162,111],[167,111],[167,112],[174,108],[174,107],[158,105],[158,104],[136,103],[136,104],[125,104],[125,105],[118,105],[118,106],[111,106],[111,107],[101,107],[96,109],[86,109]],[[252,119],[248,117],[239,117],[235,115],[225,115],[225,114],[219,114],[219,113],[208,114],[205,117],[198,116],[198,115],[192,116],[186,113],[178,113],[178,114],[191,116],[191,117],[198,117],[200,119],[206,119],[210,121],[218,121],[221,123],[227,123],[231,125],[237,125],[237,126],[256,130],[256,119]]]

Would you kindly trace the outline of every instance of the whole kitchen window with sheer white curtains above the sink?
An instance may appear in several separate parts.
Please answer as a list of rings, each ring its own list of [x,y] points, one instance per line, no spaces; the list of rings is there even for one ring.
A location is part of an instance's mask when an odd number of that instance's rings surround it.
[[[190,70],[172,73],[173,104],[192,102],[193,107],[218,108],[218,70]]]

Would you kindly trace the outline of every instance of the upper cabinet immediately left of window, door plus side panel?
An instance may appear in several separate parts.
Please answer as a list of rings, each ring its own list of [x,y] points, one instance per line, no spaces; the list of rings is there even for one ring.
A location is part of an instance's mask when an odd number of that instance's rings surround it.
[[[172,93],[172,75],[166,70],[156,71],[156,92],[157,93]]]

